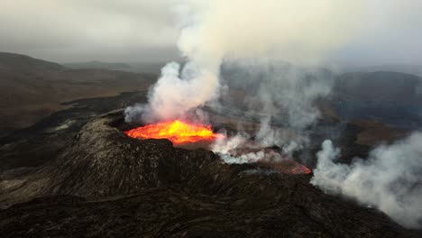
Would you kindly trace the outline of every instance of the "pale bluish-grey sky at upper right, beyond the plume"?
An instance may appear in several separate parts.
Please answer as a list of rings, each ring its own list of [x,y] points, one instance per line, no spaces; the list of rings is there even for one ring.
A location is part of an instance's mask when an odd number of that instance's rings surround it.
[[[332,60],[356,66],[422,65],[422,1],[368,1],[361,29]]]

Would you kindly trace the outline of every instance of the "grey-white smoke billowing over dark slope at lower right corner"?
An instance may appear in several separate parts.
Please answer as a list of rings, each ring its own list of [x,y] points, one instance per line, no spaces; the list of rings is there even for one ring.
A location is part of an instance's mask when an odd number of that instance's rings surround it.
[[[331,141],[323,142],[313,185],[375,206],[406,227],[422,227],[422,133],[381,145],[350,165],[335,163],[339,154]]]

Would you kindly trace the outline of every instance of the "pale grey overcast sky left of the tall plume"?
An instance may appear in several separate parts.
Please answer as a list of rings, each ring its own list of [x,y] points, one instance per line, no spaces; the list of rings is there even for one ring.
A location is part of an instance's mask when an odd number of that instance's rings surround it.
[[[170,2],[5,0],[0,50],[59,61],[167,59],[178,34]]]

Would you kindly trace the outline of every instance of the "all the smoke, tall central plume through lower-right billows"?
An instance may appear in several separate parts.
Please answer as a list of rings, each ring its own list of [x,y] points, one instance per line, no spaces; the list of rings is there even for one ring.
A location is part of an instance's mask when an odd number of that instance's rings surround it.
[[[316,100],[330,92],[330,73],[309,66],[353,38],[357,23],[362,23],[363,2],[184,1],[177,8],[178,47],[187,62],[167,64],[151,87],[149,103],[128,107],[126,120],[177,119],[217,101],[227,88],[238,87],[248,92],[243,101],[246,114],[258,116],[261,128],[253,136],[238,134],[218,140],[213,151],[230,154],[248,148],[254,137],[249,148],[278,145],[284,153],[281,157],[289,156],[306,146],[307,134],[302,133],[319,115]],[[295,66],[277,63],[280,59]],[[237,67],[242,73],[222,78],[222,66]],[[274,130],[274,120],[288,130]],[[417,185],[420,142],[422,135],[417,133],[407,141],[375,149],[367,161],[346,166],[333,162],[339,151],[326,141],[318,153],[312,183],[377,206],[400,224],[417,227],[422,194]],[[253,151],[227,161],[264,157],[263,152]]]

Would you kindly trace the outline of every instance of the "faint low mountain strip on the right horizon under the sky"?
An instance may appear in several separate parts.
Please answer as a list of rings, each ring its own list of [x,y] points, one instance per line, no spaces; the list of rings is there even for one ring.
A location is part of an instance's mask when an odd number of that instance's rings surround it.
[[[422,77],[422,65],[378,65],[367,66],[353,69],[347,69],[349,72],[377,72],[377,71],[392,71],[399,73],[406,73]]]

